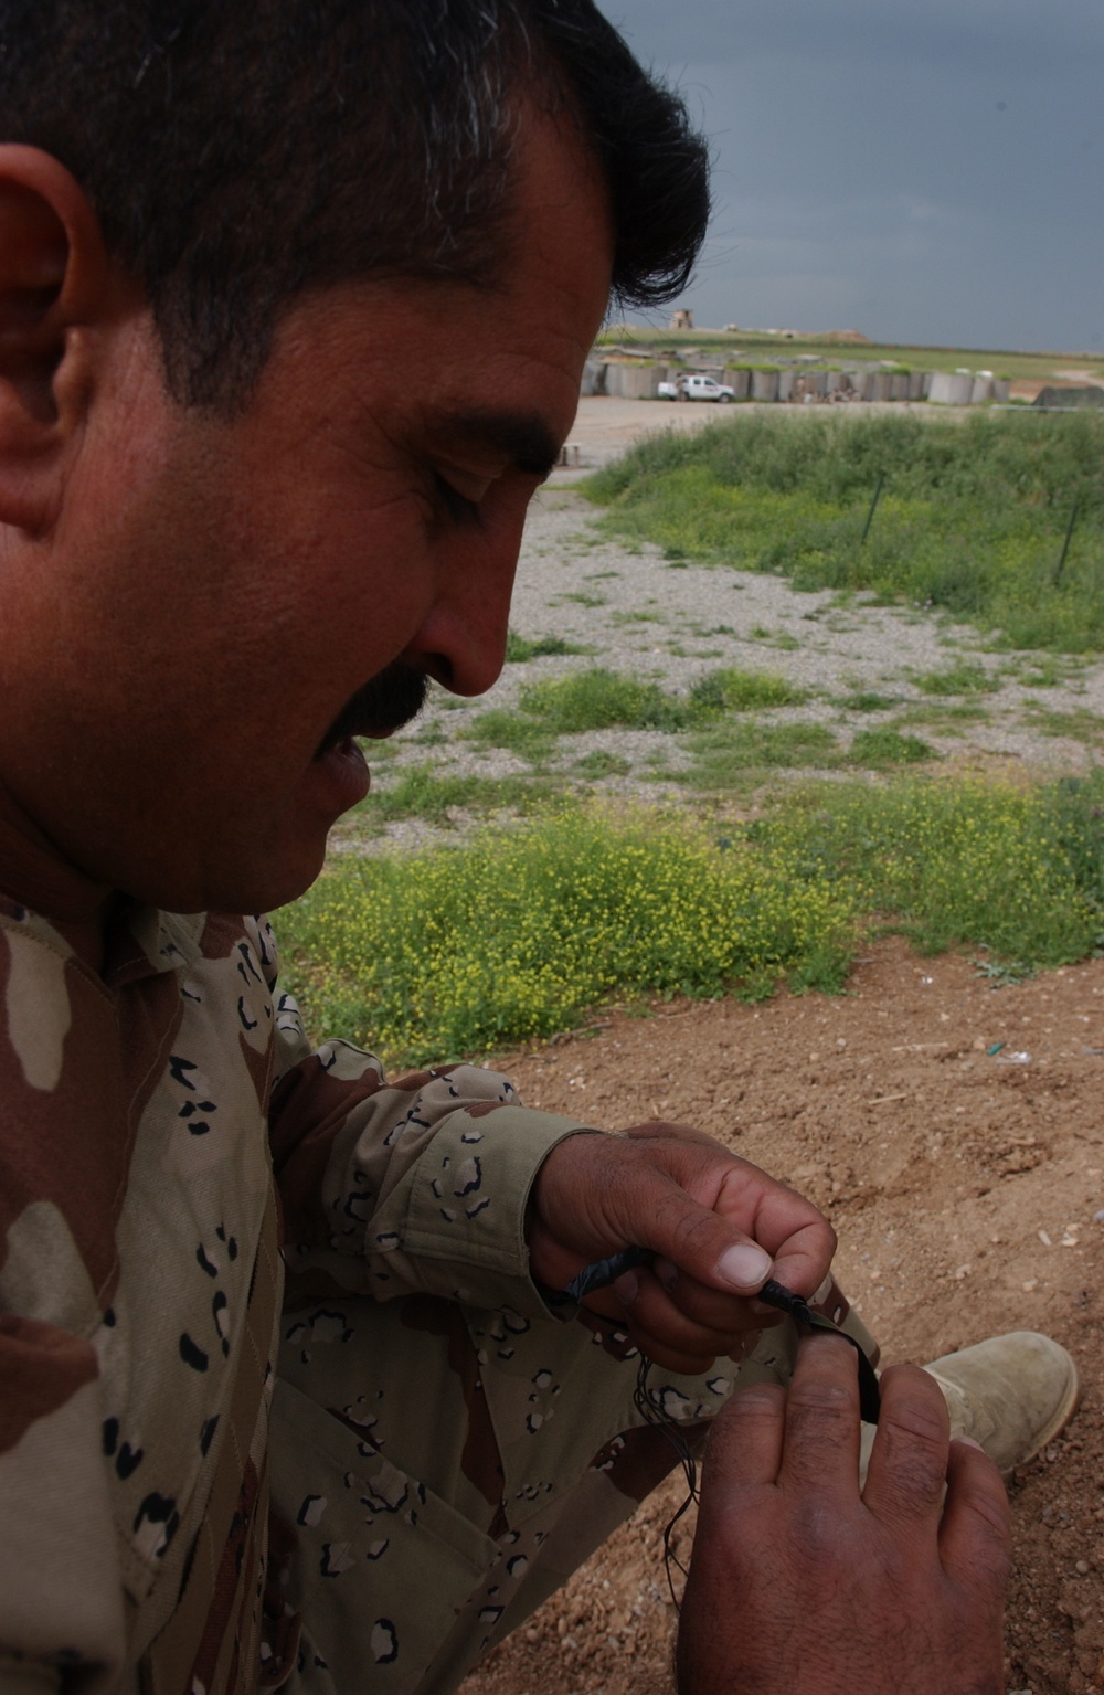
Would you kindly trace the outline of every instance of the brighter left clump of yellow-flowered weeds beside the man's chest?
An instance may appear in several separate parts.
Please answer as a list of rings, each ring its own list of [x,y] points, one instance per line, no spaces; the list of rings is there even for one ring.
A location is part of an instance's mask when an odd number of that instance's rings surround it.
[[[575,1024],[617,995],[722,995],[855,948],[841,890],[787,849],[572,810],[414,858],[349,856],[283,915],[319,1029],[426,1061]]]

